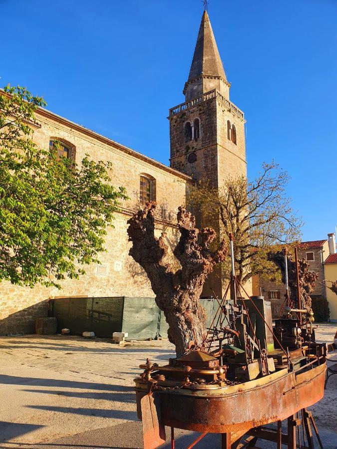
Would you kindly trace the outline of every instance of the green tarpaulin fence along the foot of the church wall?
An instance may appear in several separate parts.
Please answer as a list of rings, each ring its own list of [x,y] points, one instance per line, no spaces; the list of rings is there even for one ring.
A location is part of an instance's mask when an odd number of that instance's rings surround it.
[[[212,299],[202,299],[210,326],[216,312]],[[73,334],[93,331],[98,337],[127,332],[128,340],[167,337],[168,324],[154,298],[126,296],[101,298],[56,298],[51,301],[51,316],[58,330],[66,327]]]

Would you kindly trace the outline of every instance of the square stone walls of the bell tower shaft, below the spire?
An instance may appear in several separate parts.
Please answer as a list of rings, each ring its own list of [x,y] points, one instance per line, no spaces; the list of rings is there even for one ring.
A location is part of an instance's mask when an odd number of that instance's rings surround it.
[[[171,113],[169,116],[171,167],[192,176],[196,181],[208,182],[210,187],[220,190],[228,178],[247,175],[245,120],[233,112],[232,107],[225,101],[219,93],[209,92],[204,94],[204,101],[192,106],[187,103],[186,108],[181,108],[180,112]],[[200,121],[200,137],[186,142],[185,125],[187,122],[193,124],[195,119]],[[236,144],[228,139],[228,120],[236,127]],[[201,225],[211,225],[219,232],[217,220]],[[218,266],[209,275],[203,296],[213,295],[213,289],[217,296],[222,297],[227,284],[228,279]],[[246,288],[251,294],[251,281],[247,283]]]

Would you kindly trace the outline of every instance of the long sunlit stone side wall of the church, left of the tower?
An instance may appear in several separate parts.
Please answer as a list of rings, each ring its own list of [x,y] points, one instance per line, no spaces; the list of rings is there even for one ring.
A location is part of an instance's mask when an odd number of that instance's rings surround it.
[[[86,275],[78,280],[65,279],[61,282],[61,290],[41,285],[19,287],[1,282],[2,335],[14,330],[33,332],[35,318],[47,315],[47,300],[55,296],[154,297],[144,271],[128,255],[131,244],[126,232],[127,220],[132,211],[139,208],[140,174],[156,180],[158,214],[155,232],[158,236],[162,231],[166,233],[170,248],[175,246],[178,238],[177,209],[185,204],[186,186],[191,182],[185,175],[50,113],[40,112],[37,118],[41,127],[34,130],[34,140],[39,146],[48,148],[49,139],[58,138],[71,145],[77,163],[86,153],[95,161],[111,161],[112,182],[115,186],[124,186],[130,200],[124,202],[122,212],[115,215],[114,227],[107,229],[107,252],[99,256],[102,265],[84,267]],[[172,258],[172,253],[168,257]]]

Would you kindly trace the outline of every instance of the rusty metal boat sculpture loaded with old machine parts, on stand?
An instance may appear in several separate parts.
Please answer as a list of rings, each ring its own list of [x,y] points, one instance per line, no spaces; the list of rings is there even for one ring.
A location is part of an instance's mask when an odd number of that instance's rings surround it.
[[[231,250],[233,260],[232,244]],[[298,318],[289,307],[273,328],[269,301],[247,294],[234,263],[231,283],[224,298],[216,298],[218,311],[202,345],[191,344],[183,357],[165,366],[149,359],[140,365],[135,389],[144,448],[164,443],[169,426],[172,448],[174,428],[179,428],[201,433],[190,448],[207,433],[219,433],[227,449],[254,446],[258,438],[296,449],[301,425],[306,447],[315,447],[312,425],[322,448],[307,411],[324,395],[326,372],[326,346],[315,342],[312,320]],[[230,285],[234,300],[226,299]],[[286,419],[288,434],[281,427]],[[277,423],[277,430],[264,427],[270,423]]]

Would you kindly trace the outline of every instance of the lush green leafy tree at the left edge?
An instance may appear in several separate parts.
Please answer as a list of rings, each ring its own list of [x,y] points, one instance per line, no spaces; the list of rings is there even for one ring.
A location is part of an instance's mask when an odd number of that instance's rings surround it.
[[[33,287],[78,278],[99,263],[123,187],[111,185],[109,162],[81,164],[33,142],[34,112],[45,106],[22,87],[0,92],[0,281]]]

